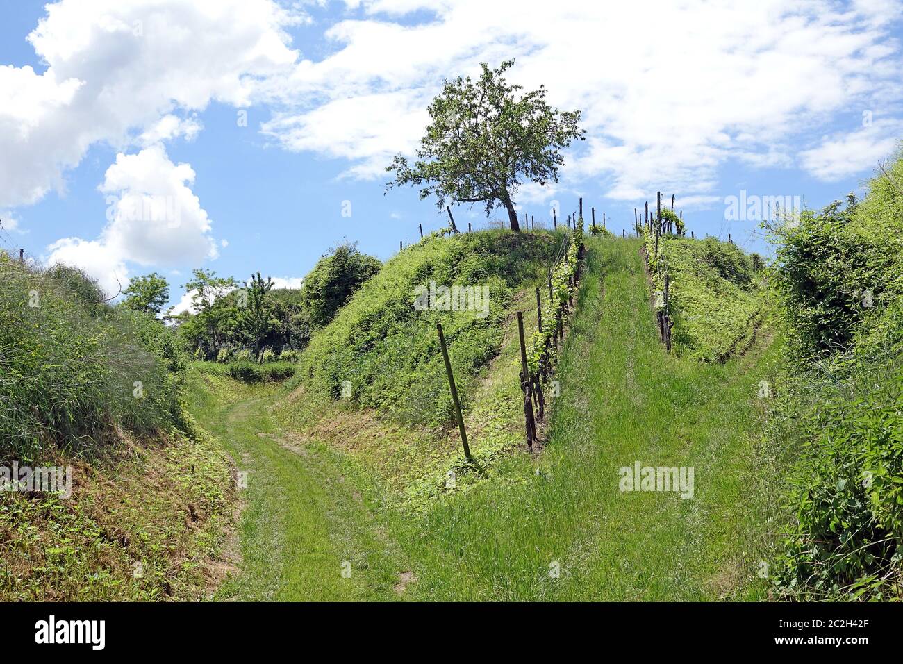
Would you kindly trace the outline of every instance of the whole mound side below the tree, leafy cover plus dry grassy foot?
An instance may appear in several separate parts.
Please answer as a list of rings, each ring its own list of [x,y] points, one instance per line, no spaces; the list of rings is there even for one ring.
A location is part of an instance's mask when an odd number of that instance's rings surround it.
[[[493,229],[405,248],[313,335],[275,415],[299,441],[350,452],[408,498],[445,491],[449,470],[461,487],[472,468],[462,462],[436,323],[474,457],[489,462],[523,444],[515,312],[524,313],[527,333],[536,329],[535,288],[547,306],[546,270],[564,238]],[[458,297],[443,287],[457,287]],[[462,288],[479,306],[443,310],[462,304]]]

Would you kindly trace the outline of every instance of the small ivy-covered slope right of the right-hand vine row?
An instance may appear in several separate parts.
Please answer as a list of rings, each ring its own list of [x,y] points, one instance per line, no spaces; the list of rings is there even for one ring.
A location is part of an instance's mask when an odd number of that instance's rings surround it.
[[[670,277],[674,351],[722,362],[746,351],[761,324],[762,260],[730,242],[646,233],[649,270],[658,292]]]

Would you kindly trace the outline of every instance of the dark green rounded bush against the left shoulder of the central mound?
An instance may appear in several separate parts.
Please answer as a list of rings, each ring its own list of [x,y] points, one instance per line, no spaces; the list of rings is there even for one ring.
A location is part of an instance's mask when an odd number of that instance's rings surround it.
[[[376,257],[362,254],[353,244],[330,249],[304,277],[302,304],[314,325],[325,325],[348,302],[361,284],[379,272],[382,264]]]

